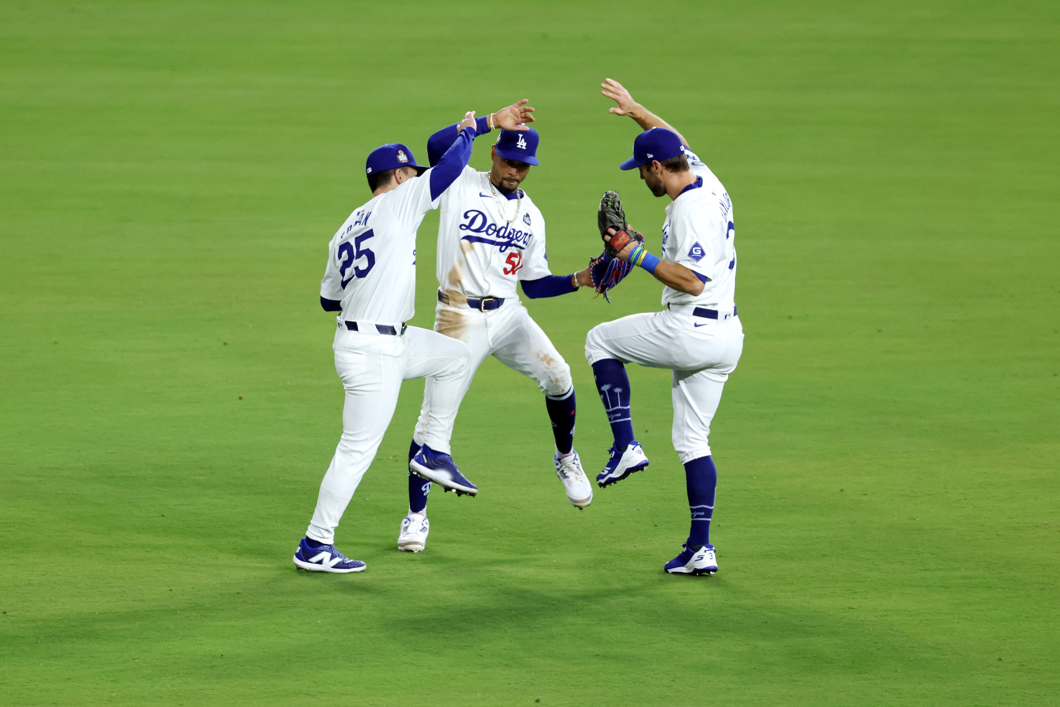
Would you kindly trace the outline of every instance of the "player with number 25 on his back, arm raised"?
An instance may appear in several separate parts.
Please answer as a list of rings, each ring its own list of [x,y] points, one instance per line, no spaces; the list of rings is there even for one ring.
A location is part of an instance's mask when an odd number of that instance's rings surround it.
[[[526,103],[498,111],[494,121],[527,130],[520,123],[533,121],[533,108]],[[372,151],[366,164],[372,198],[350,214],[329,246],[320,304],[339,312],[335,370],[346,388],[346,403],[342,437],[295,552],[295,565],[302,569],[365,569],[364,562],[335,548],[335,528],[375,457],[403,379],[429,375],[435,382],[424,406],[430,429],[422,439],[438,454],[424,473],[446,488],[474,492],[475,485],[449,456],[448,438],[434,434],[453,424],[471,352],[453,338],[405,324],[413,314],[416,232],[467,165],[476,136],[474,116],[469,112],[457,125],[452,146],[431,169],[417,164],[412,151],[401,143]]]

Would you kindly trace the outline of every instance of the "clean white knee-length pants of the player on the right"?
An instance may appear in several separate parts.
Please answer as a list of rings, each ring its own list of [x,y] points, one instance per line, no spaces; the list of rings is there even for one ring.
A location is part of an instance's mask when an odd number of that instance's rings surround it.
[[[743,352],[739,317],[693,317],[691,305],[635,314],[589,330],[585,358],[673,371],[673,447],[681,463],[710,455],[710,421]],[[729,307],[729,313],[732,308]]]

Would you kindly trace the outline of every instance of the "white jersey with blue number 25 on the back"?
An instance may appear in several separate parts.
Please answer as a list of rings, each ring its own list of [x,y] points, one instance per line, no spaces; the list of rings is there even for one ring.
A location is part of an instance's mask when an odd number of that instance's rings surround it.
[[[412,318],[416,231],[439,199],[430,200],[428,170],[350,214],[328,246],[320,282],[320,297],[342,302],[341,319],[400,325]]]

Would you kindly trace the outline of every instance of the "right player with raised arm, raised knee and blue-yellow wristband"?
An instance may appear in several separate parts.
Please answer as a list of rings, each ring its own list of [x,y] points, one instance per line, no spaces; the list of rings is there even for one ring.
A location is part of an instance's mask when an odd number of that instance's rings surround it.
[[[648,466],[633,434],[625,365],[672,370],[673,445],[685,465],[692,522],[684,549],[664,569],[712,575],[718,570],[710,545],[718,472],[707,436],[725,381],[743,351],[735,301],[732,201],[679,132],[635,102],[618,82],[608,78],[601,86],[602,93],[618,104],[611,112],[631,117],[643,130],[634,140],[633,157],[621,169],[639,170],[652,194],[669,196],[671,204],[666,208],[659,257],[636,240],[617,254],[666,285],[666,310],[600,324],[585,339],[585,357],[615,436],[611,459],[597,482],[606,487]],[[610,229],[604,240],[612,235],[619,232]]]

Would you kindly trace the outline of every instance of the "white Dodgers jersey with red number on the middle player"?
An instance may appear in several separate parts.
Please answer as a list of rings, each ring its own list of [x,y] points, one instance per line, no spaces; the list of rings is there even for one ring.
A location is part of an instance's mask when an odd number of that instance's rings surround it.
[[[443,291],[517,298],[518,280],[551,275],[545,218],[526,192],[507,199],[496,188],[491,191],[489,173],[466,166],[439,202],[438,283]]]

